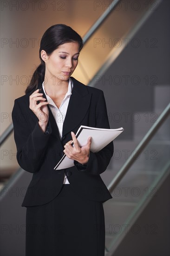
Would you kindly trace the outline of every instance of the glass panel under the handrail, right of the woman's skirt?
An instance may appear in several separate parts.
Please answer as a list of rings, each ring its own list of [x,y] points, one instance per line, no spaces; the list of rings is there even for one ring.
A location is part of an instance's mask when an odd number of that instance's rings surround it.
[[[157,186],[153,184],[162,177],[169,162],[169,131],[170,117],[138,155],[118,186],[111,191],[113,198],[104,204],[106,247],[109,251],[114,249],[118,239],[125,236],[127,228],[132,227],[136,220],[135,211],[141,202],[148,196],[156,195]]]

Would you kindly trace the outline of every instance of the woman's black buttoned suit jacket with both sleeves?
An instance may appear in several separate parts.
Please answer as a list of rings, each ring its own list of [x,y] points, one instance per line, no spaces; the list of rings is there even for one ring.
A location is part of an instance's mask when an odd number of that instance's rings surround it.
[[[85,170],[80,170],[76,162],[72,168],[54,170],[64,154],[65,143],[72,140],[71,131],[76,133],[80,125],[110,128],[103,91],[85,86],[73,77],[72,81],[62,139],[49,106],[48,132],[45,134],[39,128],[38,118],[29,108],[29,96],[33,91],[15,100],[12,118],[17,160],[21,168],[33,173],[22,206],[50,202],[62,188],[64,173],[72,189],[80,196],[98,202],[111,198],[100,174],[113,155],[112,142],[98,153],[90,152]]]

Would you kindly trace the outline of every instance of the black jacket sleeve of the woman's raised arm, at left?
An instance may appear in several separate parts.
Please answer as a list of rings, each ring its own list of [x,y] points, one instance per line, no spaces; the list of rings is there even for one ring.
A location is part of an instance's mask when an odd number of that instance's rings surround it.
[[[18,101],[15,100],[12,119],[14,140],[17,147],[17,161],[21,168],[34,173],[39,170],[43,161],[52,130],[49,125],[48,131],[43,133],[37,119],[34,129],[31,131],[27,118],[21,111]]]

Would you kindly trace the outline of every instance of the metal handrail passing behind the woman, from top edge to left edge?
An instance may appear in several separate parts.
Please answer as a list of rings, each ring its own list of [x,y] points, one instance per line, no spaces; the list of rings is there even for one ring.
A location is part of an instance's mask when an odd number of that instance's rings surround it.
[[[105,21],[105,19],[109,16],[109,14],[113,11],[120,0],[113,0],[109,7],[105,10],[105,12],[98,18],[98,20],[92,25],[89,31],[83,37],[83,43],[85,43],[91,38],[92,34],[101,26],[101,24]],[[0,136],[0,146],[3,142],[6,141],[8,136],[13,132],[13,124],[9,125],[4,133]]]

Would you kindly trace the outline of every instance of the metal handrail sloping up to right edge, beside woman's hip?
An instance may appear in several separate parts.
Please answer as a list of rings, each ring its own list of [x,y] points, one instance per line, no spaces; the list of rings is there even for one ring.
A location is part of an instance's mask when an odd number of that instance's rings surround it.
[[[108,189],[112,191],[115,189],[115,187],[118,185],[118,183],[121,181],[123,176],[126,174],[126,172],[129,170],[131,165],[137,160],[139,154],[142,152],[142,150],[146,147],[146,145],[149,143],[150,139],[155,135],[158,128],[163,124],[163,121],[170,115],[170,103],[167,105],[167,107],[163,110],[161,115],[159,115],[157,121],[152,125],[152,127],[149,129],[149,131],[146,133],[142,141],[137,145],[133,152],[133,156],[130,156],[127,161],[124,163],[122,168],[118,171],[117,175],[113,178],[113,180],[108,185]]]

